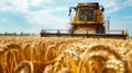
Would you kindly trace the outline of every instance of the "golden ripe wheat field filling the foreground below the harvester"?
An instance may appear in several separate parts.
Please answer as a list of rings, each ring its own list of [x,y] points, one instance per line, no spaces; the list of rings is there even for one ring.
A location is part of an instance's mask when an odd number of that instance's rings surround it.
[[[132,73],[132,39],[0,36],[0,73]]]

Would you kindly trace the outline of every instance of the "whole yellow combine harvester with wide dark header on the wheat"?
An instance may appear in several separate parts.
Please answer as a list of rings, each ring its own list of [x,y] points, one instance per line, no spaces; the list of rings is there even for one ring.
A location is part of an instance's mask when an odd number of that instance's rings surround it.
[[[98,2],[78,3],[70,7],[69,16],[74,9],[75,15],[69,29],[42,29],[41,37],[94,37],[94,38],[123,38],[128,39],[127,31],[110,31],[103,20],[103,7]]]

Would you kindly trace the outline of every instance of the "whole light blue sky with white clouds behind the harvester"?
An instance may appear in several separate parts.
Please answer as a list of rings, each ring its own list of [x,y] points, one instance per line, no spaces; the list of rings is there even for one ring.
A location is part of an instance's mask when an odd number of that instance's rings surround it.
[[[0,0],[0,33],[38,33],[68,29],[69,7],[99,2],[111,29],[125,29],[132,36],[132,0]]]

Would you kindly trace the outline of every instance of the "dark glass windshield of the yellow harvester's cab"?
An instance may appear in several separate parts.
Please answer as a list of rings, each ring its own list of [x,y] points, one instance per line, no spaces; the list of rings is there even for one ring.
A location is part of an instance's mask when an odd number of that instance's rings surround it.
[[[95,11],[92,8],[79,8],[78,21],[96,21]]]

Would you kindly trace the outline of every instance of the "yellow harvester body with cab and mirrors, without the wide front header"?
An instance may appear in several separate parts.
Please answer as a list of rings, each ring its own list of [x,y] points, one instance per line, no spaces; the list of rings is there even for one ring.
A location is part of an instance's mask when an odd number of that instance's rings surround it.
[[[72,9],[75,10],[75,15],[70,22],[72,33],[76,34],[105,34],[106,28],[103,26],[103,14],[105,11],[102,5],[98,2],[78,3],[77,7],[70,7],[69,15]]]

